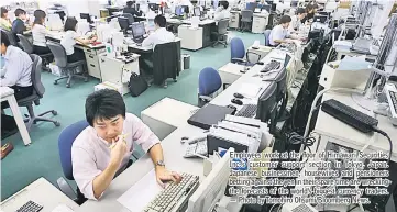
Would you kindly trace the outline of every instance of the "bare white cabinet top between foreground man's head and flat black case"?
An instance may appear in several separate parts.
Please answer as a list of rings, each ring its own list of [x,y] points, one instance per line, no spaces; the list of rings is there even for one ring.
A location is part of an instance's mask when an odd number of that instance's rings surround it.
[[[141,119],[159,140],[164,140],[177,127],[186,125],[187,120],[198,109],[166,97],[142,111]]]

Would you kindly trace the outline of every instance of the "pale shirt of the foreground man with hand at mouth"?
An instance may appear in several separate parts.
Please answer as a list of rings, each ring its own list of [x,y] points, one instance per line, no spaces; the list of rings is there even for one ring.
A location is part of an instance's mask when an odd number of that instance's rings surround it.
[[[126,134],[126,154],[119,167],[124,170],[133,152],[133,143],[141,145],[147,152],[153,145],[159,143],[158,137],[137,116],[125,114],[123,133]],[[100,175],[110,163],[111,144],[100,138],[92,126],[85,129],[75,140],[71,146],[73,176],[81,193],[92,200],[93,179]]]

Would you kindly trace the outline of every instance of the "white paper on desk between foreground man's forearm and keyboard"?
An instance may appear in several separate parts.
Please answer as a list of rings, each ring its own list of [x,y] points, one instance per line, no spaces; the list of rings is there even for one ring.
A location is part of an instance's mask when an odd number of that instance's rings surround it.
[[[118,202],[130,211],[143,211],[162,190],[156,181],[156,172],[152,169],[140,181],[120,196]]]

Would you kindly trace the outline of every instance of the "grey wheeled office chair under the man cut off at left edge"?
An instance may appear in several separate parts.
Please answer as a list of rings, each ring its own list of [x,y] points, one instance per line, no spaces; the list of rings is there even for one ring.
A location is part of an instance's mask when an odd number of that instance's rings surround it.
[[[55,120],[51,120],[47,118],[44,118],[47,113],[53,113],[53,115],[57,115],[58,113],[54,110],[46,111],[44,113],[38,114],[37,116],[34,114],[33,111],[33,103],[35,105],[40,105],[40,99],[43,98],[45,88],[42,83],[41,79],[41,72],[42,72],[42,58],[37,55],[30,55],[33,64],[32,64],[32,72],[31,72],[31,79],[32,79],[32,86],[33,86],[33,93],[26,98],[18,100],[19,107],[26,107],[29,112],[29,118],[25,120],[27,122],[26,127],[30,131],[32,127],[32,124],[35,124],[37,122],[52,122],[55,124],[55,126],[60,126],[60,123]]]

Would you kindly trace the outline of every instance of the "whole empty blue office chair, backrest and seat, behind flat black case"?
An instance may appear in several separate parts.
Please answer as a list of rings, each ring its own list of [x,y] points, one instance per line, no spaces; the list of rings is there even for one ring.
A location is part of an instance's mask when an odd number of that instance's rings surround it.
[[[219,72],[207,67],[199,74],[198,105],[201,108],[212,100],[212,96],[221,88],[222,79]]]

